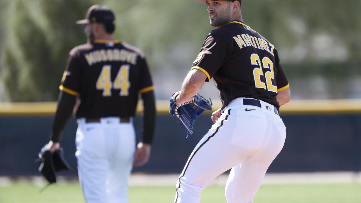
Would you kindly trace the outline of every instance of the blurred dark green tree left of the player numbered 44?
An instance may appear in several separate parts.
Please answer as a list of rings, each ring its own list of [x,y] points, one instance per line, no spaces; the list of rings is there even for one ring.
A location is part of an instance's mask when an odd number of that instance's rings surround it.
[[[9,15],[2,52],[1,76],[10,100],[56,100],[69,51],[86,42],[83,27],[74,19],[83,19],[90,5],[91,1],[61,0],[8,4],[7,13],[17,13]]]

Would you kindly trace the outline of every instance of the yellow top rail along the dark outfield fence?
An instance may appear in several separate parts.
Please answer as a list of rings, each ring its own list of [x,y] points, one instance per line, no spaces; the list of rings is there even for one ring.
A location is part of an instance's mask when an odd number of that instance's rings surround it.
[[[157,112],[165,114],[169,112],[169,101],[157,100]],[[213,109],[221,107],[220,102],[214,102]],[[137,112],[142,111],[141,102]],[[32,102],[32,103],[0,103],[0,116],[52,116],[56,111],[56,102]],[[205,112],[211,114],[211,111]],[[280,114],[310,114],[310,113],[361,113],[361,100],[291,100],[280,108]]]

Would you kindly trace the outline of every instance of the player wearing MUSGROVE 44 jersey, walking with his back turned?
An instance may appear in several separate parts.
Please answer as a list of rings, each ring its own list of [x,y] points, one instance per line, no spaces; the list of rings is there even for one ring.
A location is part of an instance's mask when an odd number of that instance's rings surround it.
[[[87,44],[70,51],[61,79],[51,151],[78,98],[76,137],[79,181],[86,202],[128,202],[127,179],[132,165],[145,164],[155,126],[153,84],[140,49],[113,39],[115,17],[105,6],[93,5],[86,18]],[[143,136],[135,147],[132,117],[141,94]]]

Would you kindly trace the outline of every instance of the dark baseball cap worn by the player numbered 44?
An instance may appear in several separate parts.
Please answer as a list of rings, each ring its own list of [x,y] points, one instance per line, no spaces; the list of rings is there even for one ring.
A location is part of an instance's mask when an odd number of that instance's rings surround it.
[[[85,19],[76,21],[77,24],[103,23],[104,25],[115,25],[115,16],[110,8],[104,5],[92,5],[85,16]]]

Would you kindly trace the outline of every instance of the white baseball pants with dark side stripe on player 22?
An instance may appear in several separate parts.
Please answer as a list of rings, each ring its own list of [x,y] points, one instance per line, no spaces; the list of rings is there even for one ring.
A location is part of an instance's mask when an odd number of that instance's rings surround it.
[[[227,203],[253,203],[286,138],[273,105],[260,103],[261,108],[243,105],[243,98],[237,98],[227,105],[190,155],[177,181],[175,203],[199,203],[201,191],[228,169]]]

